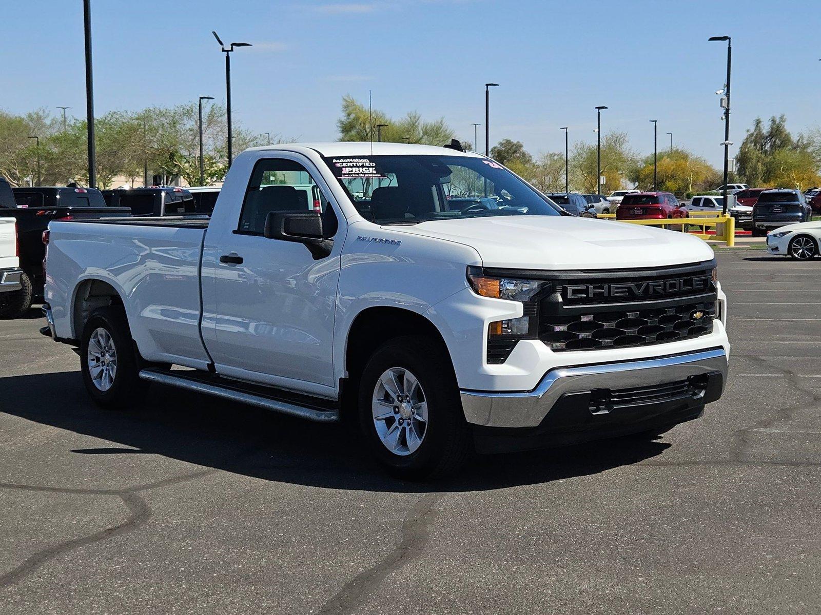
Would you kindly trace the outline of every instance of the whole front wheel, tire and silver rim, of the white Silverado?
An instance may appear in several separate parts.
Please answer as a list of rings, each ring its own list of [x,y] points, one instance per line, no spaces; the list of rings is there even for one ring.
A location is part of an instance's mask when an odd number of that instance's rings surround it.
[[[383,344],[360,381],[360,428],[376,457],[407,480],[448,476],[470,453],[447,349],[406,336]]]

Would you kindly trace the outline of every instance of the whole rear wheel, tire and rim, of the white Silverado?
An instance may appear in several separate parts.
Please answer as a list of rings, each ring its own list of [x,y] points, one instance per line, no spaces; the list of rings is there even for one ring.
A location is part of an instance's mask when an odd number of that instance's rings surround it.
[[[126,408],[140,401],[147,384],[138,376],[131,329],[122,307],[98,307],[80,339],[85,389],[103,408]]]

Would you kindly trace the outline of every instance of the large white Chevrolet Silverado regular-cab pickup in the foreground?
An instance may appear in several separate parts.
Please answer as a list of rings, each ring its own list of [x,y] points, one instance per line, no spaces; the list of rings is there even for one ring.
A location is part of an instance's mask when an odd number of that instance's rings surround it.
[[[96,402],[154,382],[352,417],[409,478],[658,435],[727,378],[707,244],[571,216],[458,144],[250,149],[210,221],[53,221],[45,266],[44,331]]]

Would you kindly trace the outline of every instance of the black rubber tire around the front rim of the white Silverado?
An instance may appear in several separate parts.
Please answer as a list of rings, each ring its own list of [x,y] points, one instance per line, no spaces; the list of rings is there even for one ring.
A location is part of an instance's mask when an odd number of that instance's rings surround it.
[[[424,391],[427,403],[421,444],[406,454],[393,453],[383,444],[372,409],[380,377],[392,368],[410,371]],[[374,456],[393,475],[420,481],[452,476],[461,469],[472,451],[472,440],[462,412],[456,375],[441,342],[410,335],[391,339],[377,348],[365,364],[359,389],[361,433]],[[390,412],[390,408],[387,411]],[[394,420],[401,420],[401,415],[397,414]]]

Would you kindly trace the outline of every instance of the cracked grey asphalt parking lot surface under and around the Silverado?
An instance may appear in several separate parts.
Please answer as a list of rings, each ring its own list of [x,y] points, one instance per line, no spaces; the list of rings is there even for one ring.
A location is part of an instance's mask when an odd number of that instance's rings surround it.
[[[337,426],[101,411],[39,314],[0,321],[0,613],[819,613],[821,261],[718,261],[704,417],[429,487]]]

